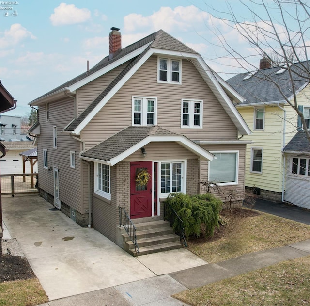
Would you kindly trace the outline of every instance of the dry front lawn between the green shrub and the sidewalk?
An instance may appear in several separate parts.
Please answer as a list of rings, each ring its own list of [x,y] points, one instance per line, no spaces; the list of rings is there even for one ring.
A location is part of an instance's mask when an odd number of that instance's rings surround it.
[[[188,249],[210,263],[310,239],[310,225],[263,212],[236,208],[221,215],[227,225],[213,237],[188,239]]]

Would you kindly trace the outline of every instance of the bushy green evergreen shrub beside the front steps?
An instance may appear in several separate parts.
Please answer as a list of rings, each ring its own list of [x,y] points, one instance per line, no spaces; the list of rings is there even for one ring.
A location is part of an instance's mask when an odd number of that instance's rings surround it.
[[[171,193],[166,200],[167,217],[176,233],[180,233],[183,227],[186,237],[199,237],[204,229],[203,231],[208,237],[212,236],[215,227],[218,227],[222,204],[220,200],[209,193],[192,196],[184,193]],[[172,209],[179,215],[183,223],[175,216]]]

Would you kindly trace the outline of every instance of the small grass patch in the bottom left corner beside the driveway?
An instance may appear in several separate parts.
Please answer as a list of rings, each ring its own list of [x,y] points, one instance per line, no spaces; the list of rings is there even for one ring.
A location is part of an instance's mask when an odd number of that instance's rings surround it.
[[[33,306],[48,302],[37,278],[0,283],[0,306]]]

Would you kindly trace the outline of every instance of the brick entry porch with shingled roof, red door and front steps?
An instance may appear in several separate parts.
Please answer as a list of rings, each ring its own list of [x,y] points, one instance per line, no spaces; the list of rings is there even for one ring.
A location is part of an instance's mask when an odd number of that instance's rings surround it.
[[[169,223],[163,221],[164,201],[172,192],[197,194],[199,159],[212,160],[212,154],[160,127],[129,127],[84,152],[82,158],[92,161],[95,229],[131,252],[133,245],[120,228],[121,207],[130,226],[140,231],[136,236],[143,239],[145,251],[166,250],[166,243],[182,247],[179,236],[171,228],[168,231]]]

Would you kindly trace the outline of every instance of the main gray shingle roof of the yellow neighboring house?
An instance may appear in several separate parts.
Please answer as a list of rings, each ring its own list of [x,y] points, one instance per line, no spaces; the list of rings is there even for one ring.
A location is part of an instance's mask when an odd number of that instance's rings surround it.
[[[302,67],[308,64],[310,61],[294,64],[291,68],[296,72],[292,71],[296,91],[302,90],[309,83],[309,74],[307,77],[299,75],[305,75],[305,69]],[[289,100],[292,98],[292,82],[287,69],[274,67],[257,70],[251,74],[250,76],[248,72],[241,73],[226,81],[246,99],[237,107],[254,103],[284,103],[283,95]]]

